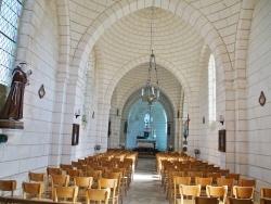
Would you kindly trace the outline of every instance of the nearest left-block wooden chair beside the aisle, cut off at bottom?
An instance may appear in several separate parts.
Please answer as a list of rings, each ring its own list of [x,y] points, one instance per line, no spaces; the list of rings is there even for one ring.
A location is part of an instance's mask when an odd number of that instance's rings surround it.
[[[86,203],[90,204],[90,201],[93,202],[104,202],[108,204],[111,195],[111,189],[88,189],[86,191]]]

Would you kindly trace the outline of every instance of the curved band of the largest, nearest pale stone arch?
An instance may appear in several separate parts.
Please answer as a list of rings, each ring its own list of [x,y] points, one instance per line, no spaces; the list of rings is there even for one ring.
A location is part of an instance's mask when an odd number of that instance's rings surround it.
[[[117,20],[129,15],[130,13],[141,10],[144,8],[152,7],[152,2],[147,0],[139,0],[137,2],[128,3],[127,1],[122,2],[121,5],[116,3],[114,10],[108,8],[103,14],[100,15],[87,29],[81,40],[79,41],[75,55],[72,60],[73,68],[81,67],[86,60],[88,59],[88,54],[91,49],[95,44],[96,40],[103,35],[103,33],[112,26]],[[205,39],[206,43],[210,47],[211,52],[216,56],[216,63],[218,66],[222,66],[222,77],[224,80],[231,80],[232,75],[225,75],[224,72],[232,71],[230,56],[224,52],[225,46],[218,30],[212,26],[212,24],[194,7],[184,2],[177,1],[170,2],[165,1],[163,3],[155,2],[155,7],[169,11],[179,17],[186,21],[191,26],[193,26],[201,36]],[[131,8],[137,8],[131,10]],[[106,14],[106,15],[104,15]],[[228,62],[228,63],[225,63]],[[175,73],[173,67],[169,67],[169,71]],[[221,82],[221,81],[220,81]],[[185,87],[184,87],[185,90]]]

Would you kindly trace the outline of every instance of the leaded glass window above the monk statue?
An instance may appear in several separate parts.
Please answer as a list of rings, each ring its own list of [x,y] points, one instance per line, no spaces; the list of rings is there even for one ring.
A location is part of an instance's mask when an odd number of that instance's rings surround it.
[[[2,0],[0,5],[0,84],[9,84],[24,0]]]

